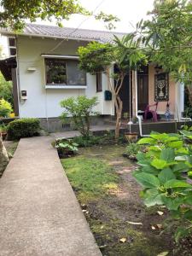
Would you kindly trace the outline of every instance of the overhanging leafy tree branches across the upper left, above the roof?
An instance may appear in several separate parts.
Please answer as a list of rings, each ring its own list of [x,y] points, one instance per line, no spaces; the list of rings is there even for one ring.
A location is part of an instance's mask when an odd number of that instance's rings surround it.
[[[61,26],[61,21],[69,20],[70,15],[94,15],[84,9],[79,0],[2,0],[0,4],[0,26],[9,26],[15,30],[22,29],[26,20],[31,22],[37,19],[51,21],[55,18],[57,24]],[[113,21],[119,21],[116,16],[103,12],[95,15],[95,18],[108,23],[109,29],[114,27]]]

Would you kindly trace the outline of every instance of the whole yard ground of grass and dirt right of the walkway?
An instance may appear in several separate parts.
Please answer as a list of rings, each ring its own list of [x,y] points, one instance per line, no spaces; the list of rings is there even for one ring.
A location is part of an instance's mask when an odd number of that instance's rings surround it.
[[[189,255],[173,254],[172,235],[160,236],[166,211],[144,207],[131,176],[135,166],[122,157],[124,149],[81,148],[79,155],[61,160],[102,255]]]

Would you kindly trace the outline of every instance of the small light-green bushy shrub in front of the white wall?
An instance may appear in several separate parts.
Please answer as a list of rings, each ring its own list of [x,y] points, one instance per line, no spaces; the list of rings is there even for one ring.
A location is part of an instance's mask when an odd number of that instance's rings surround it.
[[[73,117],[75,127],[83,137],[90,136],[90,117],[97,115],[98,112],[93,108],[97,105],[97,98],[87,98],[86,96],[70,97],[61,101],[61,107],[64,112],[61,119],[65,122],[68,116]]]

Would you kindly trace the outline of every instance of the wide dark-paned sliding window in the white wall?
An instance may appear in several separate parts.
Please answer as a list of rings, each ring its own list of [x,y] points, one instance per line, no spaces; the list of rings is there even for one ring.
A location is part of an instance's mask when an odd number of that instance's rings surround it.
[[[45,58],[47,85],[86,85],[86,73],[78,67],[79,61]]]

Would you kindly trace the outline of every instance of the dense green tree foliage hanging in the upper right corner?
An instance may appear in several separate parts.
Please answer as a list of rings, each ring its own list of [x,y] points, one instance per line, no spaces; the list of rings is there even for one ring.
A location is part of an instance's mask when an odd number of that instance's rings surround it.
[[[191,1],[157,0],[149,15],[137,24],[134,36],[148,47],[151,61],[180,82],[192,84]]]

